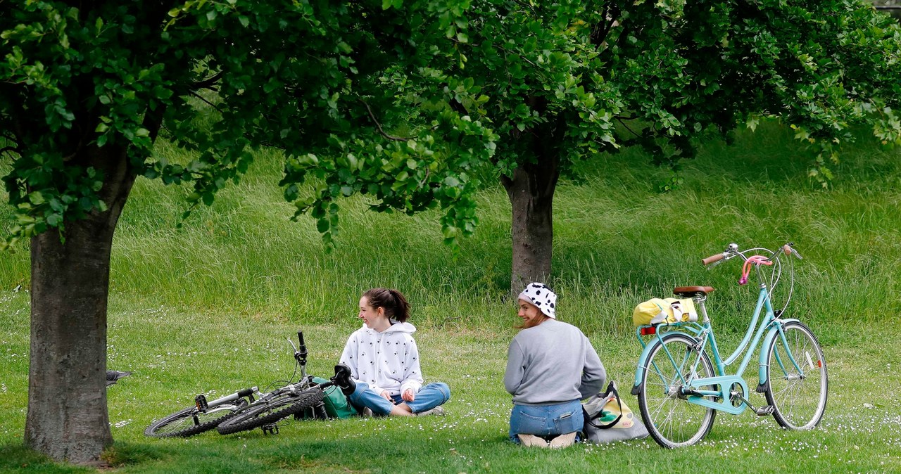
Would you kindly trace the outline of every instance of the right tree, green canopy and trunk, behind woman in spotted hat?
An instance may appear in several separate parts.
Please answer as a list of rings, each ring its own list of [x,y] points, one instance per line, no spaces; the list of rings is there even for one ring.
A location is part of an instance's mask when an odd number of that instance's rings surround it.
[[[486,0],[469,24],[465,60],[443,70],[489,98],[468,112],[499,136],[512,291],[551,273],[557,177],[598,152],[641,146],[675,165],[707,137],[778,118],[825,185],[860,128],[901,144],[901,30],[862,0]]]

